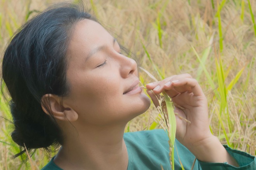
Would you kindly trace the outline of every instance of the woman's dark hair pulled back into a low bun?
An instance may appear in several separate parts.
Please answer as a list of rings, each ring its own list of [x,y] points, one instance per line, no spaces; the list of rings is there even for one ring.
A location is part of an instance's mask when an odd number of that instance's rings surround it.
[[[2,79],[12,98],[11,136],[21,146],[15,157],[26,151],[24,145],[48,150],[62,144],[61,130],[52,114],[43,112],[41,98],[68,94],[67,47],[74,24],[83,19],[95,20],[81,4],[54,5],[26,22],[5,50]]]

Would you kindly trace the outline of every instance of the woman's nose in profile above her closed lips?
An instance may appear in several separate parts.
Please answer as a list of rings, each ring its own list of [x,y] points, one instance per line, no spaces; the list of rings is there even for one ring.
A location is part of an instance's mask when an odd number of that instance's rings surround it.
[[[122,56],[120,64],[120,73],[123,78],[135,74],[137,76],[137,63],[134,59]]]

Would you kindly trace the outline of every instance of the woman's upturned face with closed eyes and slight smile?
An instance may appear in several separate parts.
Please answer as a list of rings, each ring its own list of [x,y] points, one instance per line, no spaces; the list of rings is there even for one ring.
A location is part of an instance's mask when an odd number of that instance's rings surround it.
[[[87,124],[127,122],[145,112],[150,100],[139,87],[137,63],[100,24],[76,24],[67,53],[71,90],[63,102]],[[64,106],[65,107],[65,106]]]

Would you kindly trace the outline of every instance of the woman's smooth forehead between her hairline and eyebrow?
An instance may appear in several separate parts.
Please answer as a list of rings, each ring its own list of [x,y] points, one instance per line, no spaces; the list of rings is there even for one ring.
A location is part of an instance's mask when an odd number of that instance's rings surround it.
[[[99,23],[83,19],[76,23],[69,42],[69,54],[89,54],[94,48],[112,42],[112,36]]]

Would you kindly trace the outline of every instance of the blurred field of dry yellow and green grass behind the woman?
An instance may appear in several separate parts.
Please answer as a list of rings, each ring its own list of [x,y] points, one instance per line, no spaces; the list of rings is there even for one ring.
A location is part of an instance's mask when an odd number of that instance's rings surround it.
[[[0,0],[0,51],[27,19],[59,0]],[[72,1],[74,3],[76,1]],[[190,73],[208,98],[211,131],[224,145],[256,155],[255,0],[84,0],[99,21],[157,79]],[[140,72],[143,83],[152,81]],[[13,159],[12,119],[0,95],[0,169],[40,169],[37,150]],[[126,131],[157,129],[153,105]],[[32,165],[31,165],[32,164]]]

